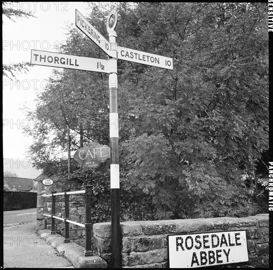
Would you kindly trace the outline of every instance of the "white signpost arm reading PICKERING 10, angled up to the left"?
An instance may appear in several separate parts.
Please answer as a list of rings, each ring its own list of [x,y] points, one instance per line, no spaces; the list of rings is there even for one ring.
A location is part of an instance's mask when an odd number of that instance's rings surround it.
[[[110,43],[105,37],[98,32],[76,9],[75,25],[78,27],[87,37],[89,37],[95,44],[97,44],[105,53],[111,57],[115,57],[115,52],[110,51]]]

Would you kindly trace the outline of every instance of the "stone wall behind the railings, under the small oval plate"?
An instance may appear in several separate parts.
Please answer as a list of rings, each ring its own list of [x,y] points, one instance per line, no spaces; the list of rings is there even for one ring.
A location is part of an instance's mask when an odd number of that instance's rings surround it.
[[[67,180],[65,178],[50,178],[54,183],[51,186],[43,185],[42,181],[46,178],[38,180],[37,193],[37,230],[51,229],[51,217],[43,214],[51,215],[52,198],[43,197],[43,194],[51,194],[51,191],[64,192],[64,189],[76,191],[82,189],[82,182],[78,180]],[[64,196],[56,196],[55,216],[64,217]],[[85,223],[85,195],[75,194],[69,196],[69,219],[79,223]],[[64,222],[55,219],[56,231],[64,236]],[[83,227],[69,224],[70,240],[77,244],[83,245],[85,230]]]

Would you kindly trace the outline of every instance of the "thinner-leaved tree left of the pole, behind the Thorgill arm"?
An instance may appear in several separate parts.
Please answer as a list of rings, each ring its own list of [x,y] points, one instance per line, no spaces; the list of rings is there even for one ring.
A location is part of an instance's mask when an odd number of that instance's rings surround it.
[[[87,42],[79,31],[70,29],[70,37],[67,45],[62,47],[62,52],[96,56],[96,52],[83,50]],[[49,174],[64,169],[53,164],[64,162],[55,156],[56,150],[67,151],[67,129],[70,130],[72,151],[90,140],[108,143],[109,98],[106,76],[80,70],[55,70],[48,88],[37,99],[36,110],[27,111],[28,119],[36,123],[36,129],[26,127],[24,131],[35,140],[30,146],[29,155],[37,168]],[[75,166],[77,164],[74,163]]]

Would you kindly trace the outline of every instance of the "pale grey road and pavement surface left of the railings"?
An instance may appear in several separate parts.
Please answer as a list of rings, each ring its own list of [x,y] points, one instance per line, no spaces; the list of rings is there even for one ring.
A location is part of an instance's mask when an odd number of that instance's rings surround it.
[[[74,268],[36,233],[36,208],[4,211],[4,268]]]

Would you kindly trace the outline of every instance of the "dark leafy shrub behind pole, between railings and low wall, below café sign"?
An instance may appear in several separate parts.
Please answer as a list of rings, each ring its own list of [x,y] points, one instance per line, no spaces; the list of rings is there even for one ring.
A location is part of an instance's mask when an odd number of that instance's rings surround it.
[[[82,187],[92,185],[92,223],[111,220],[110,209],[110,174],[109,162],[102,164],[100,170],[74,170],[71,174],[59,173],[60,177],[78,179]],[[120,189],[120,220],[151,220],[154,219],[152,198],[144,194],[138,187],[132,187],[121,172]]]

